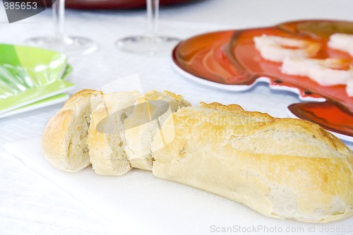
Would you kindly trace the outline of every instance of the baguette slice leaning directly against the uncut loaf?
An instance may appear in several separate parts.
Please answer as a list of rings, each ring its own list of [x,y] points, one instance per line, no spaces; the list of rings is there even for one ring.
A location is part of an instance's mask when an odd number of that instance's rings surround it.
[[[150,146],[153,136],[160,131],[165,119],[180,107],[191,104],[172,92],[150,91],[138,98],[131,116],[125,120],[124,147],[131,166],[151,170]]]

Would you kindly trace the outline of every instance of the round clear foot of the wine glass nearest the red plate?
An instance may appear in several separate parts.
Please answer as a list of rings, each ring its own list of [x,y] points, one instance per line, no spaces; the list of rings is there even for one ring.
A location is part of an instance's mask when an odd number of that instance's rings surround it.
[[[176,37],[125,37],[115,42],[116,48],[136,54],[171,54],[172,49],[180,42]]]

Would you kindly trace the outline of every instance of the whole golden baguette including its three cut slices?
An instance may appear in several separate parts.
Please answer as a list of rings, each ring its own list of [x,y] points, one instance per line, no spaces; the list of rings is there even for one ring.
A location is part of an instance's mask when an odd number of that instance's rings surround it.
[[[82,90],[49,120],[42,150],[64,171],[90,162],[97,174],[152,169],[269,217],[331,222],[353,214],[352,151],[328,131],[236,104],[189,105],[170,92]]]

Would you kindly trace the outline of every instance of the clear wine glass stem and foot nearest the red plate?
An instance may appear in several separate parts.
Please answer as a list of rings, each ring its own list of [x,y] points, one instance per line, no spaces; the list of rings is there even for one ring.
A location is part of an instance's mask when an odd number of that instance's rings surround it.
[[[148,32],[145,35],[124,37],[115,42],[118,49],[137,54],[169,54],[180,42],[177,37],[157,35],[160,0],[146,0]]]

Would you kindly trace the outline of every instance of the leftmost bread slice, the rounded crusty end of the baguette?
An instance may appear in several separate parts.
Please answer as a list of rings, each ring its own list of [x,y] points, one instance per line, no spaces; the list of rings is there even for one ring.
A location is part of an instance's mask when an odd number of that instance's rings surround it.
[[[86,140],[91,109],[101,102],[100,96],[97,90],[77,92],[47,123],[42,151],[57,169],[76,172],[90,165]]]

